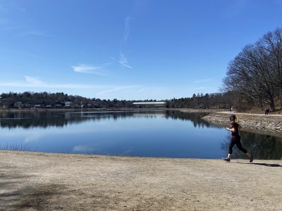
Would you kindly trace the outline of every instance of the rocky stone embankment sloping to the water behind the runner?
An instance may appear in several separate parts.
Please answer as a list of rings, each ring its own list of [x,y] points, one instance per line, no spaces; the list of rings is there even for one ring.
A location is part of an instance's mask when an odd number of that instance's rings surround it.
[[[282,136],[282,115],[233,113],[243,130],[272,136]],[[230,112],[214,112],[202,119],[220,126],[229,125]]]

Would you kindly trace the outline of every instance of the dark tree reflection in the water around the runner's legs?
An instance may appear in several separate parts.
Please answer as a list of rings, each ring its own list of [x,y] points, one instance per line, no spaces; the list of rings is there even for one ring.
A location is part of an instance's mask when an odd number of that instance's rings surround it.
[[[255,155],[255,159],[277,160],[282,159],[282,138],[276,136],[240,132],[241,142],[244,148]],[[228,153],[230,136],[221,144],[221,149]],[[247,158],[236,146],[233,148],[232,158]]]

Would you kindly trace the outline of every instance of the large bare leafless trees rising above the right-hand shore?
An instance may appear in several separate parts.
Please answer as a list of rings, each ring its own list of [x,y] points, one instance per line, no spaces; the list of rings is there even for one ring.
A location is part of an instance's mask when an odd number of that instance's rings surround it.
[[[228,64],[223,91],[235,100],[258,108],[282,108],[282,29],[247,44]]]

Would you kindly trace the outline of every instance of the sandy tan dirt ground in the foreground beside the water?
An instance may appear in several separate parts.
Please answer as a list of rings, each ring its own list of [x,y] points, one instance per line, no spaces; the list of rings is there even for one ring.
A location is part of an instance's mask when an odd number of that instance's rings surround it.
[[[282,210],[282,160],[0,151],[0,210]]]

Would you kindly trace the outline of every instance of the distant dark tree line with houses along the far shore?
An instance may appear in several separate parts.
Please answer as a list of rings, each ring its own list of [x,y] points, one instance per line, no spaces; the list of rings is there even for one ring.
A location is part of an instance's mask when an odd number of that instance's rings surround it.
[[[157,102],[155,100],[145,100],[144,102]],[[231,108],[231,102],[228,101],[226,94],[193,94],[188,98],[173,98],[164,100],[166,108]],[[73,96],[64,94],[63,92],[47,93],[47,92],[30,92],[23,93],[2,93],[0,95],[1,108],[64,108],[66,102],[71,102],[69,108],[133,108],[135,101],[125,100],[106,100],[99,98],[85,98],[82,96]],[[18,104],[20,103],[20,104]],[[19,106],[20,105],[20,106]],[[142,106],[138,107],[142,108]]]

